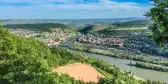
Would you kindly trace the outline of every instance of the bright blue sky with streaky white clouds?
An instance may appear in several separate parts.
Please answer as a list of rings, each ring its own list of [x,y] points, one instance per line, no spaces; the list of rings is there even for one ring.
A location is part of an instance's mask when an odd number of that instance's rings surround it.
[[[150,0],[0,0],[0,19],[143,17]]]

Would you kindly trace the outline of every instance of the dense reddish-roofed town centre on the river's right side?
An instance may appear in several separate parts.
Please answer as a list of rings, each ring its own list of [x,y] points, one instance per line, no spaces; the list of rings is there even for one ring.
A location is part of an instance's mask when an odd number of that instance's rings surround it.
[[[102,36],[93,36],[93,35],[82,35],[78,41],[96,44],[96,45],[111,45],[111,46],[119,46],[123,47],[124,39],[120,37],[111,36],[111,37],[102,37]]]

